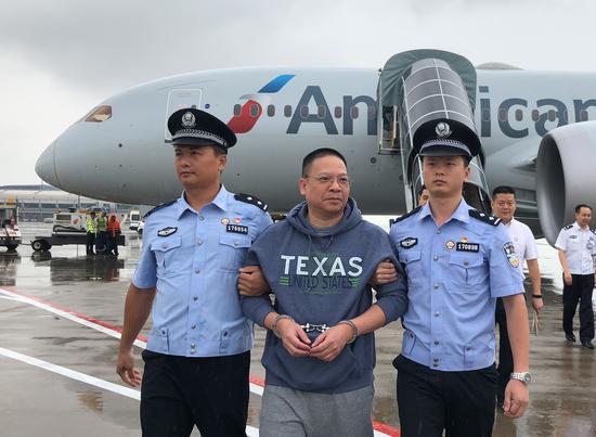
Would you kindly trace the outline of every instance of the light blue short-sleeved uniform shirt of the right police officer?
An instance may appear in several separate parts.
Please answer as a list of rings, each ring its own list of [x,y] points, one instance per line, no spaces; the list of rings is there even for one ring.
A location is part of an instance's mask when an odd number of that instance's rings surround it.
[[[389,233],[409,286],[402,355],[433,370],[493,364],[495,299],[523,293],[505,229],[469,210],[462,200],[438,227],[426,204]]]

